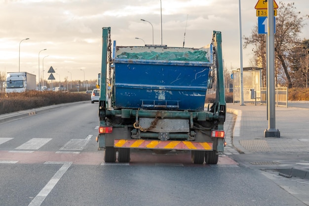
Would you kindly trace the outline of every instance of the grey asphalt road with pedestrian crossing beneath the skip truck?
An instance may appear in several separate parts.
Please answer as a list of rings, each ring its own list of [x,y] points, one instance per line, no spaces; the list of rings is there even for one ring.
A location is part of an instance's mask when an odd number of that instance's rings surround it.
[[[288,190],[301,180],[229,155],[210,166],[191,164],[190,153],[134,151],[130,164],[105,164],[98,122],[98,104],[89,101],[0,124],[0,205],[306,205]]]

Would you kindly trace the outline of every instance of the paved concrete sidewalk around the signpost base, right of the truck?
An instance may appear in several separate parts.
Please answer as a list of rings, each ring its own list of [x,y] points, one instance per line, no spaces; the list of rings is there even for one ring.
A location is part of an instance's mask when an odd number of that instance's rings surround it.
[[[266,105],[227,103],[227,112],[237,115],[232,144],[245,154],[308,154],[305,160],[308,167],[302,167],[301,177],[309,179],[309,102],[289,103],[288,108],[275,109],[275,129],[279,130],[280,138],[264,135],[269,127]],[[293,169],[296,171],[296,168]]]

